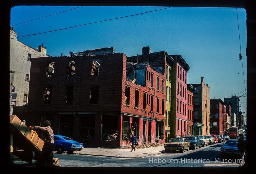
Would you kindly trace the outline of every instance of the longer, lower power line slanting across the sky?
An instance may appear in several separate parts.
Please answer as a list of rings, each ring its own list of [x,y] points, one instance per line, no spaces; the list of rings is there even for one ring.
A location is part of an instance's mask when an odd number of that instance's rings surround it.
[[[172,7],[167,7],[167,8],[163,8],[163,9],[159,9],[159,10],[165,10],[165,9],[168,9],[168,8],[172,8]],[[36,33],[36,34],[31,34],[31,35],[26,35],[26,36],[20,36],[20,37],[16,37],[16,38],[40,35],[40,34],[50,33],[50,32],[56,32],[56,31],[60,31],[60,30],[66,30],[66,29],[71,29],[71,28],[75,28],[75,27],[81,27],[81,26],[89,25],[89,24],[96,24],[96,23],[105,22],[105,21],[111,21],[111,20],[115,20],[115,19],[121,19],[121,18],[127,18],[127,17],[131,17],[131,16],[136,16],[136,15],[142,15],[142,14],[145,14],[145,13],[151,13],[151,12],[155,12],[155,11],[159,11],[159,10],[153,10],[153,11],[148,11],[148,12],[143,12],[143,13],[138,13],[138,14],[133,14],[133,15],[128,15],[128,16],[122,16],[122,17],[118,17],[118,18],[106,19],[106,20],[103,20],[103,21],[91,22],[91,23],[77,25],[77,26],[73,26],[73,27],[67,27],[67,28],[62,28],[62,29],[57,29],[57,30],[51,30],[51,31],[47,31],[47,32]],[[16,38],[11,38],[11,39],[16,39]]]

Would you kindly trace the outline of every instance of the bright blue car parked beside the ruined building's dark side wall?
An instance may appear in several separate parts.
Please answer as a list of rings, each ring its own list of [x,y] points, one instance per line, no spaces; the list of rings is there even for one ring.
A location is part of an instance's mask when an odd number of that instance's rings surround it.
[[[79,151],[83,148],[83,143],[76,142],[66,136],[54,135],[54,150],[56,150],[57,153],[61,154],[64,151],[67,151],[68,154],[72,154],[74,151]]]

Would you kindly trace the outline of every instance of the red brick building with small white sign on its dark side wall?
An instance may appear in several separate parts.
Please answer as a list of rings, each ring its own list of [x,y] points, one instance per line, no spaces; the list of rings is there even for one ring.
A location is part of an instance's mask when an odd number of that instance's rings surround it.
[[[224,135],[226,119],[226,103],[220,99],[210,99],[211,134]]]

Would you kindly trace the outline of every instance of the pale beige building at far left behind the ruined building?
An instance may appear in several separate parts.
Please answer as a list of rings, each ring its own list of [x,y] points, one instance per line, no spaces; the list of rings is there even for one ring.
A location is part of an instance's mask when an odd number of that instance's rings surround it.
[[[17,33],[10,29],[10,73],[14,73],[11,106],[24,106],[28,102],[31,58],[46,57],[46,47],[32,48],[17,40]],[[13,38],[13,39],[12,39]]]

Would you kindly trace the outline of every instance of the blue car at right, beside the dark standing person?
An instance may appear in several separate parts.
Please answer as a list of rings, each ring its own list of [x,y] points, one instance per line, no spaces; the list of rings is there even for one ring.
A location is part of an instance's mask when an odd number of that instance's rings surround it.
[[[220,148],[220,156],[221,158],[225,158],[226,156],[239,156],[240,152],[237,148],[237,139],[229,139],[227,140]]]

